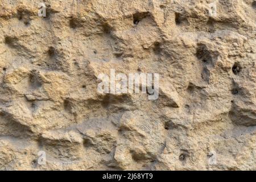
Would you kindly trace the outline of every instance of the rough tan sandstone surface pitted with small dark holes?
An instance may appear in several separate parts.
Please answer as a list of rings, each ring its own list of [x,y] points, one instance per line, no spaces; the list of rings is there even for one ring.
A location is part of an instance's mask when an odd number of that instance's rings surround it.
[[[0,5],[0,169],[256,169],[256,1]],[[110,68],[158,100],[98,93]]]

